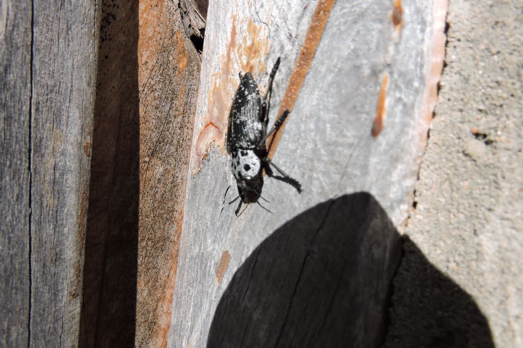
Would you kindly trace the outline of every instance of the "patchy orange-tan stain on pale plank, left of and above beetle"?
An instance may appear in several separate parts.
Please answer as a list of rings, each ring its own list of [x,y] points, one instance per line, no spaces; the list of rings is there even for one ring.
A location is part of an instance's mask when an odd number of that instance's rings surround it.
[[[237,26],[246,27],[243,30],[246,34],[241,38],[238,38]],[[193,170],[199,169],[211,143],[221,145],[222,151],[224,149],[225,128],[234,92],[238,86],[238,71],[249,71],[255,78],[264,74],[263,57],[269,52],[269,42],[259,38],[266,37],[266,30],[266,26],[256,25],[251,18],[238,22],[237,16],[232,16],[229,45],[222,56],[221,68],[211,76],[211,88],[207,94],[207,112],[201,121],[204,126],[198,133],[196,149],[192,152]],[[213,127],[209,127],[210,124]]]

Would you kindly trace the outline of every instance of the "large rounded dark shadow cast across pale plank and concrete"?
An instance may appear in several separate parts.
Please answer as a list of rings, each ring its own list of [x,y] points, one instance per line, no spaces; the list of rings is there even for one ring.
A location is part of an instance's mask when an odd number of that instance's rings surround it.
[[[402,269],[414,271],[395,278]],[[430,292],[435,285],[437,294]],[[423,305],[415,301],[419,298]],[[414,326],[416,331],[407,325],[414,314],[425,320]],[[464,334],[468,345],[459,345]],[[368,193],[320,203],[265,239],[233,275],[207,343],[494,346],[487,320],[471,296],[432,266],[410,239],[400,237]]]

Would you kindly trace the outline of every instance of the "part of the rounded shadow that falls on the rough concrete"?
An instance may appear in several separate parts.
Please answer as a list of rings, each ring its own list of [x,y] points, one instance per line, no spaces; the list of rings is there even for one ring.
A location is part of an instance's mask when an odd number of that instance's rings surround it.
[[[494,348],[488,322],[472,297],[431,265],[410,238],[403,242],[383,346]]]

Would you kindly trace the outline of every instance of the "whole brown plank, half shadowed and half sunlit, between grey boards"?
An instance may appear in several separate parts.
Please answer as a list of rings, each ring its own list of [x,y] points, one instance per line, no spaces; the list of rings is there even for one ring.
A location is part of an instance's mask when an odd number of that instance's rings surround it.
[[[80,345],[165,346],[200,57],[177,2],[118,5],[101,5]]]

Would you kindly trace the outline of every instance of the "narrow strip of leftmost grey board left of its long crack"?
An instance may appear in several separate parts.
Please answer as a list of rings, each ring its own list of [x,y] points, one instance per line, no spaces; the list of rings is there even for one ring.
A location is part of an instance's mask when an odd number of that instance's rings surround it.
[[[0,3],[0,346],[26,346],[29,324],[31,4]]]

